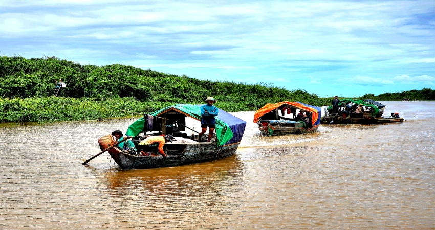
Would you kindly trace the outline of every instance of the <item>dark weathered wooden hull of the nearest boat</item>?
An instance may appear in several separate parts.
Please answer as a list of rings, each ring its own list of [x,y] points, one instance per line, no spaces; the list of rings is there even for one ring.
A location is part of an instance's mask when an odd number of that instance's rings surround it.
[[[149,169],[159,167],[173,167],[179,165],[207,162],[231,156],[238,144],[216,147],[216,143],[172,144],[167,143],[163,156],[134,156],[114,147],[108,152],[122,169]]]

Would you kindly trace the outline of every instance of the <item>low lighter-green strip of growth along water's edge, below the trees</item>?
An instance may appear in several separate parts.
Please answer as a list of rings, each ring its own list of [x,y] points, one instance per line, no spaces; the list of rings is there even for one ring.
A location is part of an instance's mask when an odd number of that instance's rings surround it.
[[[332,98],[299,100],[316,106],[327,105]],[[219,100],[219,99],[218,99]],[[289,101],[297,101],[289,99]],[[97,120],[107,118],[131,117],[132,114],[120,110],[149,113],[163,107],[191,103],[180,101],[138,101],[133,97],[125,98],[0,98],[0,122],[37,122]],[[271,101],[270,103],[275,103]],[[197,101],[193,104],[202,104]],[[255,111],[266,102],[252,104],[250,101],[221,101],[216,106],[228,112]]]

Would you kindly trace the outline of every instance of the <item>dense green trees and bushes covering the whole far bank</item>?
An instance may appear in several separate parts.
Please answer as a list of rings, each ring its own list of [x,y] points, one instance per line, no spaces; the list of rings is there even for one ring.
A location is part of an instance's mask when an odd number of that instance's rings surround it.
[[[332,99],[267,83],[198,80],[120,64],[80,65],[56,57],[0,56],[0,78],[1,122],[122,117],[126,113],[119,109],[148,113],[171,104],[202,104],[207,96],[215,97],[216,106],[229,112],[257,110],[280,101],[320,106],[330,104]],[[55,81],[60,79],[67,87],[58,97],[52,97]],[[366,98],[434,100],[435,90],[366,94],[360,99]]]

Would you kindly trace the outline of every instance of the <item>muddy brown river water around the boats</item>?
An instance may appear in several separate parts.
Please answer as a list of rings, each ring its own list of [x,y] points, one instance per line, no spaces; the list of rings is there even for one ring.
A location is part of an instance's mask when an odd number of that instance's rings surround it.
[[[132,121],[0,124],[0,229],[434,228],[435,102],[384,103],[406,121],[263,137],[236,112],[233,156],[147,170],[81,164]]]

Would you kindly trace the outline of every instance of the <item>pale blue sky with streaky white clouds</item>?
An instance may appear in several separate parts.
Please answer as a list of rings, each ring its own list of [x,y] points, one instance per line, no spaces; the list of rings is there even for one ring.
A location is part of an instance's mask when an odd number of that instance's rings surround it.
[[[320,97],[435,89],[435,1],[1,0],[0,55]]]

